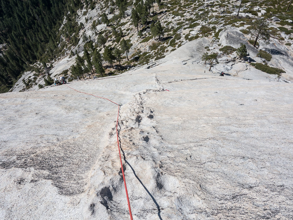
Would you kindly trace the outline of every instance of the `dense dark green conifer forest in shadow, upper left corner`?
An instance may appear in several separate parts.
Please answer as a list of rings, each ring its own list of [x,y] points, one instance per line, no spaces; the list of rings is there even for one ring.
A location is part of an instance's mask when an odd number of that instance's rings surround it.
[[[30,64],[54,58],[64,15],[76,13],[81,0],[0,2],[0,43],[6,43],[0,48],[0,92],[6,92]]]

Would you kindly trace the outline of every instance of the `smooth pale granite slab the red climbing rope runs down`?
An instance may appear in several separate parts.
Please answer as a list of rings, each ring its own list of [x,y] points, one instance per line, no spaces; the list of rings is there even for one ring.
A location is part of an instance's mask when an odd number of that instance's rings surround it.
[[[69,86],[122,104],[133,219],[292,219],[292,84],[245,64],[208,72],[209,43]],[[115,104],[66,85],[0,104],[1,219],[129,219]]]

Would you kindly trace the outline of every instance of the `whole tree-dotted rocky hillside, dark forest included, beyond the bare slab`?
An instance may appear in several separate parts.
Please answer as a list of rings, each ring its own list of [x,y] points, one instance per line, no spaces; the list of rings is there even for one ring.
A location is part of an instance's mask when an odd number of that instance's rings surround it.
[[[220,65],[221,57],[235,60],[233,57],[238,56],[240,45],[219,42],[220,33],[231,28],[243,33],[247,43],[242,43],[248,50],[251,45],[274,59],[274,50],[267,50],[265,43],[277,41],[286,54],[293,54],[293,6],[287,1],[13,0],[9,4],[1,1],[0,10],[1,92],[7,92],[13,84],[13,89],[22,84],[20,91],[42,88],[60,75],[72,81],[120,74],[155,62],[198,38],[211,40],[211,47],[203,53],[218,54],[212,60],[219,60]],[[231,53],[223,52],[226,46],[232,47]],[[55,72],[64,58],[74,63]],[[237,62],[255,60],[239,58]],[[260,67],[255,65],[259,62],[266,68],[283,68],[274,60],[253,61],[251,65]],[[217,62],[206,65],[216,67]]]

